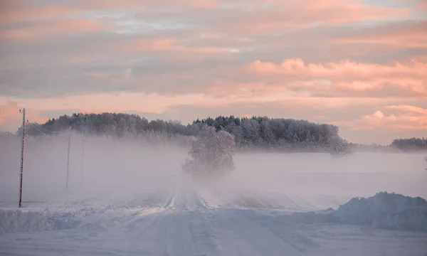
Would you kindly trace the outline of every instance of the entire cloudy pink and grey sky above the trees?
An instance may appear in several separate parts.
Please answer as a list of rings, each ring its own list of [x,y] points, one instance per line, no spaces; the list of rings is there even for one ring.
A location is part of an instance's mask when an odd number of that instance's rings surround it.
[[[427,0],[2,0],[1,131],[22,107],[427,137]]]

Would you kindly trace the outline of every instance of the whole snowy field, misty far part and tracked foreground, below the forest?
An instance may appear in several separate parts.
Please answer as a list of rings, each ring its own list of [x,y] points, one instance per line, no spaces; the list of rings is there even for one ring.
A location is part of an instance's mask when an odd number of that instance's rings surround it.
[[[21,209],[19,144],[1,146],[0,255],[427,255],[427,233],[292,217],[427,198],[419,154],[238,154],[230,177],[196,185],[182,149],[88,139],[83,174],[79,145],[65,189],[66,142],[28,142]]]

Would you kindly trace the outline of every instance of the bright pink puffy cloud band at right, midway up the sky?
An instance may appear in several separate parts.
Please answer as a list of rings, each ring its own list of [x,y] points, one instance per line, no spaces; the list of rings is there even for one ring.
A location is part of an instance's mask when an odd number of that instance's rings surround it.
[[[280,64],[255,60],[243,73],[257,81],[269,81],[263,89],[275,87],[318,97],[426,97],[427,63],[395,62],[390,65],[357,63],[305,63],[302,59],[283,60]]]

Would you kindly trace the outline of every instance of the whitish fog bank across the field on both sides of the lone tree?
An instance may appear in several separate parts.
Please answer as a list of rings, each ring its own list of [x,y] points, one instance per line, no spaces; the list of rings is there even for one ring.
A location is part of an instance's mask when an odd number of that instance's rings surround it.
[[[0,202],[18,203],[21,140],[1,138]],[[132,139],[73,135],[66,186],[68,137],[27,137],[23,164],[23,202],[55,201],[95,193],[126,196],[188,186],[181,171],[188,149]],[[222,181],[199,184],[223,195],[293,194],[310,201],[345,203],[380,191],[427,198],[426,161],[422,154],[236,153],[236,170]],[[83,174],[84,172],[84,174]],[[326,199],[325,199],[326,198]],[[323,205],[320,204],[323,207]],[[327,203],[325,207],[328,206]]]

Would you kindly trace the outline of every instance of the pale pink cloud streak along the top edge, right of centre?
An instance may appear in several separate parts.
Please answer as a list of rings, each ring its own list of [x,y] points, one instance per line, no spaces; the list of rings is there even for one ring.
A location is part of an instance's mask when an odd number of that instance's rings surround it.
[[[244,8],[243,5],[241,9],[218,10],[218,16],[223,16],[222,19],[201,23],[201,26],[207,31],[221,31],[238,36],[257,36],[295,31],[317,26],[320,23],[334,25],[380,21],[385,18],[403,18],[411,15],[410,9],[371,6],[354,1],[339,1],[339,4],[332,4],[332,2],[280,1],[270,7],[262,6],[252,9]]]

